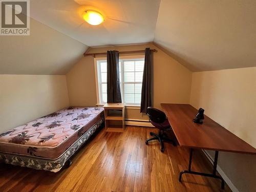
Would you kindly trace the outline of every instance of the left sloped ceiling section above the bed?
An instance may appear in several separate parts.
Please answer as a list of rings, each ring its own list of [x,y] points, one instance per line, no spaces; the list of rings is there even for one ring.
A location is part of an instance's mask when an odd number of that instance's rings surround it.
[[[30,36],[0,36],[0,74],[66,74],[88,46],[30,20]]]

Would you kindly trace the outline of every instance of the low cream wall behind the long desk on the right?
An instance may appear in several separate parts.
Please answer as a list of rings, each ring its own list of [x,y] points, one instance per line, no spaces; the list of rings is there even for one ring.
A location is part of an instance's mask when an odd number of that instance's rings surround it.
[[[190,104],[256,147],[256,67],[193,73]],[[255,191],[255,155],[221,152],[219,166],[239,191]]]

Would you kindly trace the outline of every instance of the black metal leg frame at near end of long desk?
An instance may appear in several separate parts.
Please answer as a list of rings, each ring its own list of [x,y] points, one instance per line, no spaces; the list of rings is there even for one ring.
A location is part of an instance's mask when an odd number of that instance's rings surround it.
[[[221,188],[224,189],[224,180],[222,179],[222,177],[216,175],[219,152],[215,151],[214,170],[213,170],[212,174],[191,171],[192,156],[193,156],[193,148],[190,148],[188,170],[183,170],[182,172],[180,172],[179,181],[181,182],[181,178],[182,178],[183,174],[193,174],[193,175],[201,175],[201,176],[205,176],[205,177],[213,177],[213,178],[221,180]]]

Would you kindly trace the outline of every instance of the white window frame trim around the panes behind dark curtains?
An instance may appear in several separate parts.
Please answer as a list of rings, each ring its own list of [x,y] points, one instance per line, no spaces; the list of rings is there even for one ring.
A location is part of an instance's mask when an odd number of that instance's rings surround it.
[[[141,60],[144,59],[144,55],[130,55],[130,56],[120,56],[119,60]],[[106,60],[106,57],[95,57],[94,58],[94,69],[95,69],[95,82],[96,82],[96,95],[97,95],[97,104],[96,105],[104,105],[105,102],[102,102],[102,82],[101,82],[101,76],[100,73],[98,73],[98,61],[100,60]],[[123,62],[123,61],[122,61]],[[124,82],[123,81],[123,75],[124,75],[124,70],[123,70],[123,63],[122,65],[119,66],[120,70],[121,70],[121,76],[119,77],[121,80],[120,83],[120,91],[121,91],[121,97],[122,97],[122,103],[124,103],[124,84],[125,83],[142,83],[142,82]],[[100,70],[100,68],[99,68]],[[100,80],[100,81],[99,81]],[[140,108],[140,103],[136,104],[136,103],[124,103],[125,106],[131,106],[131,107],[139,107]]]

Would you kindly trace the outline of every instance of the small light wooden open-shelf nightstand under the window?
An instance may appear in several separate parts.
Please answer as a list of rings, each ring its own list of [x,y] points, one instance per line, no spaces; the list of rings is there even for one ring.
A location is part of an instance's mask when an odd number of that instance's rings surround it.
[[[106,103],[104,106],[105,130],[107,132],[123,132],[124,123],[124,104]]]

